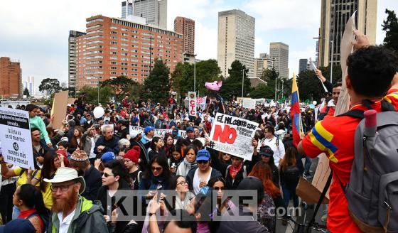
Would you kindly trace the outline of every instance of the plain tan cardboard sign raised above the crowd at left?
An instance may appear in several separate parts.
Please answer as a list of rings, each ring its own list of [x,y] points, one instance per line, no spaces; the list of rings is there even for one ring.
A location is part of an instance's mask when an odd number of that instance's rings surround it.
[[[58,92],[54,95],[53,107],[51,108],[51,124],[53,129],[59,129],[63,125],[68,105],[68,91]]]

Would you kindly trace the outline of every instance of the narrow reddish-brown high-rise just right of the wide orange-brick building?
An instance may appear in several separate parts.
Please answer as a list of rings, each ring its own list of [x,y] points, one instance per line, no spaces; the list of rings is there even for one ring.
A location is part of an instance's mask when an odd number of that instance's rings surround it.
[[[178,16],[174,20],[174,31],[183,34],[183,53],[195,55],[195,21]]]

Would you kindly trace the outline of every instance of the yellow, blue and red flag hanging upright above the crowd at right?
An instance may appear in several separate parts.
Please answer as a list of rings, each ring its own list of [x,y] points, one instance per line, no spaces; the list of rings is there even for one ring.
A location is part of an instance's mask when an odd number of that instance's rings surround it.
[[[300,97],[298,96],[298,88],[296,82],[296,75],[293,73],[293,82],[291,84],[291,109],[290,119],[293,122],[291,131],[293,132],[293,144],[297,147],[300,142],[301,133],[301,114],[300,114]]]

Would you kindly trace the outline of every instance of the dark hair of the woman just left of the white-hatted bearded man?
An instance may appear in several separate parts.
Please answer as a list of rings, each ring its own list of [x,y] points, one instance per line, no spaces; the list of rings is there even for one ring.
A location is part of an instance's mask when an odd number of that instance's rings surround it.
[[[47,209],[43,202],[43,195],[41,191],[31,184],[21,185],[19,193],[17,194],[18,199],[23,201],[23,205],[29,209],[35,208],[39,215],[46,215]]]

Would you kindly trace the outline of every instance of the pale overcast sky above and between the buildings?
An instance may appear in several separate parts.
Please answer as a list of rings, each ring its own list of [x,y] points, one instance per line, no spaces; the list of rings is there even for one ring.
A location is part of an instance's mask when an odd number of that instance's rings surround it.
[[[85,18],[121,16],[120,0],[1,0],[0,56],[21,62],[23,81],[46,77],[68,82],[68,34],[85,31]],[[397,0],[378,0],[377,43],[382,43],[385,9],[397,11]],[[168,0],[168,29],[176,16],[195,20],[195,53],[201,60],[217,59],[217,13],[241,9],[256,18],[255,53],[269,53],[269,43],[289,45],[289,71],[300,58],[315,58],[321,0]]]

